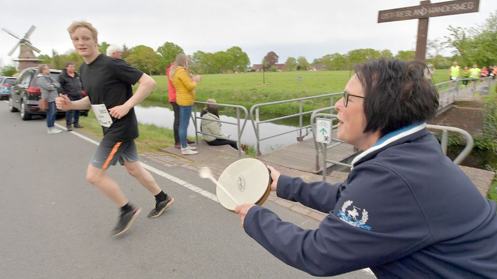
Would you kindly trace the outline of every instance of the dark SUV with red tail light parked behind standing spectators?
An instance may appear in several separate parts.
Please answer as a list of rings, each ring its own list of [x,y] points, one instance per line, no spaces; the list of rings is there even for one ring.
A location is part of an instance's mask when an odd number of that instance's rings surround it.
[[[57,80],[60,70],[50,69],[50,75]],[[36,86],[36,75],[38,68],[31,67],[24,69],[12,86],[9,95],[9,110],[13,113],[21,111],[22,120],[30,120],[33,115],[46,116],[46,110],[39,110],[38,100],[41,97],[40,89]],[[86,93],[83,91],[83,97]],[[80,110],[81,115],[88,115],[88,109]],[[64,110],[57,110],[57,116],[65,115]]]

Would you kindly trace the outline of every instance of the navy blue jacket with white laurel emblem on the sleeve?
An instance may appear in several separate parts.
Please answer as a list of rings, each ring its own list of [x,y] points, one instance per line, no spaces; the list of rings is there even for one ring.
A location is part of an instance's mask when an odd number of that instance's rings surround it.
[[[280,176],[277,195],[329,215],[303,230],[252,207],[245,232],[312,275],[370,267],[378,278],[496,278],[494,202],[443,155],[426,124],[381,138],[339,184]]]

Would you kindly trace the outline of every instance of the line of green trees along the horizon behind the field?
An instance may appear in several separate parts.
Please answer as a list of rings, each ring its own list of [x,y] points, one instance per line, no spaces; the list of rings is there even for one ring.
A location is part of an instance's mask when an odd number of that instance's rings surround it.
[[[453,61],[459,65],[489,66],[497,63],[497,11],[491,13],[483,24],[471,28],[452,27],[448,28],[448,35],[444,39],[428,40],[427,64],[432,64],[438,69],[447,69]],[[105,53],[110,44],[102,42],[99,44],[101,53]],[[453,56],[444,57],[441,53],[446,48],[452,48]],[[165,42],[156,50],[146,45],[137,45],[128,48],[122,46],[122,59],[134,67],[149,75],[164,74],[165,68],[174,61],[178,53],[184,52],[183,48],[172,42]],[[326,70],[350,70],[355,64],[378,58],[398,58],[412,60],[415,50],[399,50],[395,55],[388,50],[377,50],[372,48],[359,48],[347,53],[326,54],[321,58],[314,59],[312,64],[303,56],[297,58],[289,57],[285,61],[287,71],[307,70],[311,65],[323,65]],[[83,59],[74,51],[59,54],[52,50],[52,55],[41,54],[38,57],[41,63],[51,64],[53,69],[63,70],[66,62],[73,62],[77,67]],[[194,73],[213,74],[228,71],[245,71],[250,67],[250,60],[246,52],[239,46],[233,46],[225,51],[204,52],[198,50],[190,55],[190,70]],[[261,61],[266,70],[276,71],[279,56],[275,51],[269,51]],[[15,71],[12,66],[4,66],[0,69],[2,74],[8,76]],[[14,72],[15,73],[15,72]]]

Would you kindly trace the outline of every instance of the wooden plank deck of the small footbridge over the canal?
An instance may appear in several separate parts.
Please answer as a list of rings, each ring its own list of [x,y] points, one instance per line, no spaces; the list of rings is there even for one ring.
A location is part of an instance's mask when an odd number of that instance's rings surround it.
[[[332,138],[336,138],[336,130],[332,133]],[[350,144],[342,143],[327,150],[327,159],[342,161],[354,155],[357,151]],[[314,138],[280,148],[278,150],[262,154],[258,158],[275,163],[287,168],[299,170],[308,173],[317,174],[321,170],[316,170],[316,150],[314,147]],[[321,164],[322,154],[319,154]],[[327,163],[326,168],[330,168],[332,163]]]

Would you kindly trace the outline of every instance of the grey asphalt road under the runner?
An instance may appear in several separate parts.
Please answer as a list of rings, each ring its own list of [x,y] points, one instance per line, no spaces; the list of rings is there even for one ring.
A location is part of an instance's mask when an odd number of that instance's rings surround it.
[[[261,248],[238,215],[171,178],[215,193],[208,180],[143,158],[166,173],[152,175],[176,201],[162,216],[147,218],[153,196],[122,166],[111,167],[109,176],[143,210],[129,231],[111,237],[118,209],[86,182],[96,145],[75,132],[47,134],[44,119],[22,121],[0,102],[0,278],[312,277]],[[264,206],[302,228],[318,227],[273,202]],[[373,276],[359,270],[336,278]]]

